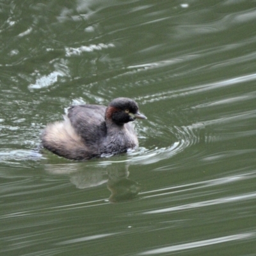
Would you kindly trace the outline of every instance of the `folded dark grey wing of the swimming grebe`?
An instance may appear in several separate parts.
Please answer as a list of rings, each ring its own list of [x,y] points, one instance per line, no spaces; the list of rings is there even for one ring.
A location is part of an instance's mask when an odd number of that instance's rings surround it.
[[[106,136],[106,106],[77,105],[68,109],[68,118],[72,127],[88,145],[96,145]]]

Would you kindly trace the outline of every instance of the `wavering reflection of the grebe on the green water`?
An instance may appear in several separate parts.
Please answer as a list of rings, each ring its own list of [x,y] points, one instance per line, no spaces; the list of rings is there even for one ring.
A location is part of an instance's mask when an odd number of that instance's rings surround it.
[[[104,166],[90,166],[90,170],[84,170],[82,163],[45,164],[45,170],[49,173],[68,174],[72,184],[79,189],[93,188],[106,183],[111,191],[108,200],[113,203],[133,200],[141,191],[141,185],[128,178],[128,167],[124,166],[124,163],[113,162]]]

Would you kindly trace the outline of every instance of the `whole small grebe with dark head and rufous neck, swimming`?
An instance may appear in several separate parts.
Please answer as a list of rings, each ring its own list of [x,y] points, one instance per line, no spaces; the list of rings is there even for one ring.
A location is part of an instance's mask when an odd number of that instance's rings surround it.
[[[108,107],[77,105],[68,109],[63,122],[47,125],[42,145],[68,159],[90,159],[102,154],[118,154],[138,147],[131,121],[145,119],[138,105],[128,98],[112,100]]]

